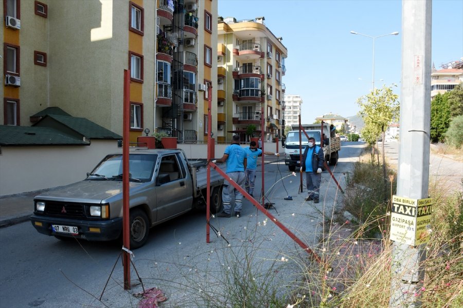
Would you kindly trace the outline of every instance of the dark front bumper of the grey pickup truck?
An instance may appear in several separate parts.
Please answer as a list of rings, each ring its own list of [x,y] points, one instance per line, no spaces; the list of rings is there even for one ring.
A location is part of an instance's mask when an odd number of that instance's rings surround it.
[[[110,220],[79,220],[59,217],[31,215],[30,221],[39,233],[63,237],[77,237],[88,241],[111,241],[119,238],[122,231],[122,217]],[[58,233],[51,225],[77,227],[78,235]]]

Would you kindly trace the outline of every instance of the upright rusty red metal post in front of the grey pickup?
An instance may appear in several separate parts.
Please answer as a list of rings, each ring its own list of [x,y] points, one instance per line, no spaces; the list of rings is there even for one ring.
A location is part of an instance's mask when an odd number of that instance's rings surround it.
[[[129,212],[129,144],[130,144],[130,70],[124,69],[123,93],[123,142],[122,142],[122,232],[123,245],[130,249],[130,212]],[[130,290],[130,254],[122,251],[124,266],[124,290]]]

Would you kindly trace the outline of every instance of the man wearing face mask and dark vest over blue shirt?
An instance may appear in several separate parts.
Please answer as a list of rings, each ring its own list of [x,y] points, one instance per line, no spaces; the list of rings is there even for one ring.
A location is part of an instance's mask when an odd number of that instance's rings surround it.
[[[318,203],[324,157],[322,148],[315,145],[315,139],[310,137],[300,164],[300,171],[306,171],[307,191],[309,193],[306,201],[313,200],[314,203]]]

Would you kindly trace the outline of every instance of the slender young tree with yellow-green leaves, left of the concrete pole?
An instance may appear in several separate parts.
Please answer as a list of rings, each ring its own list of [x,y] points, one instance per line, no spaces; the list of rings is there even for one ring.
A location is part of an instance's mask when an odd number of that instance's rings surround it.
[[[360,117],[365,122],[365,127],[362,129],[362,136],[364,130],[372,136],[371,139],[379,131],[384,141],[384,132],[391,121],[394,121],[399,116],[400,105],[397,101],[398,95],[393,92],[392,87],[385,85],[381,89],[373,89],[369,94],[357,100],[361,110],[359,111]],[[377,136],[376,136],[377,137]],[[368,140],[368,139],[367,139]],[[376,139],[375,139],[376,141]],[[384,178],[384,199],[387,194],[387,180],[386,180],[386,158],[384,154],[384,142],[382,143],[383,150],[383,178]]]

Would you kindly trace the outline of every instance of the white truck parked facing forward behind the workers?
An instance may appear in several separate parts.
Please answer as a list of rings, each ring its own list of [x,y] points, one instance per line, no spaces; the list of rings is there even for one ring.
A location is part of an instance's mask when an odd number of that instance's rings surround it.
[[[309,137],[315,139],[315,144],[320,146],[320,140],[322,139],[322,124],[304,124],[301,126],[304,127]],[[288,166],[290,171],[294,171],[296,167],[300,167],[299,125],[293,125],[291,128],[293,130],[288,132],[286,135],[286,142],[284,143],[284,164]],[[328,139],[328,144],[323,145],[325,161],[334,166],[339,158],[338,151],[341,150],[341,142],[339,137],[330,137],[330,126],[328,123],[324,124],[323,133]],[[308,143],[309,140],[305,133],[301,131],[302,153],[304,153],[304,149]]]

